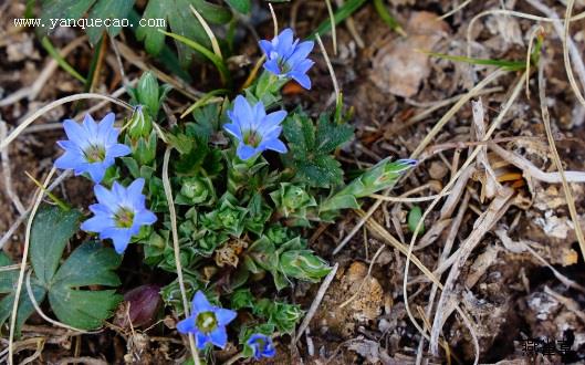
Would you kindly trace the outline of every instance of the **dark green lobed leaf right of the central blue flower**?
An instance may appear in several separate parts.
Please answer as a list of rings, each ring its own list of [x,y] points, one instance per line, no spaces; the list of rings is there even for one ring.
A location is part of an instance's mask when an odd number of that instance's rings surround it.
[[[297,180],[323,188],[342,181],[343,170],[332,153],[352,138],[352,126],[335,124],[324,115],[315,127],[299,111],[284,121],[283,132],[290,148],[284,163],[297,173]]]

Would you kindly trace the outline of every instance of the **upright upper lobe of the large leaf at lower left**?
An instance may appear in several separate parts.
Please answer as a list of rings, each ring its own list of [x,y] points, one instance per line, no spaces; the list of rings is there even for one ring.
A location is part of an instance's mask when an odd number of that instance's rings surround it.
[[[81,212],[43,207],[34,217],[31,230],[31,262],[34,274],[49,285],[69,240],[77,231]]]

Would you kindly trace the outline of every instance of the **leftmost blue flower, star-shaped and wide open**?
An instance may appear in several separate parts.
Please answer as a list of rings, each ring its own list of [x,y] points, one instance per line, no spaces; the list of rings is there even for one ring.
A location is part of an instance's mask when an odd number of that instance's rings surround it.
[[[100,123],[95,123],[90,114],[85,115],[82,125],[73,119],[64,121],[69,140],[58,142],[65,154],[55,160],[55,167],[71,168],[75,175],[88,173],[95,182],[102,181],[114,159],[132,152],[128,146],[117,143],[119,131],[114,128],[114,113],[108,113]]]

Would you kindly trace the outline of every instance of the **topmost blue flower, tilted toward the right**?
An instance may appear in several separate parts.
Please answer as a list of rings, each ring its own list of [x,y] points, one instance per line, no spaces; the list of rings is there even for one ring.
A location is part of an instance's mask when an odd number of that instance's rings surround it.
[[[306,72],[314,62],[306,56],[313,51],[312,41],[293,40],[290,28],[283,30],[272,41],[260,41],[260,48],[267,55],[264,69],[281,77],[292,77],[306,90],[311,88],[311,79]]]

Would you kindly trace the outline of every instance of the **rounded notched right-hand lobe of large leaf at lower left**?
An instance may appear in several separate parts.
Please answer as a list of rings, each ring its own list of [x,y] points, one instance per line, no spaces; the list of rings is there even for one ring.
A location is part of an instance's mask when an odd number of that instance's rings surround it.
[[[83,243],[73,251],[56,272],[49,291],[49,302],[58,319],[82,330],[100,327],[122,301],[122,295],[114,290],[90,291],[76,288],[119,285],[114,270],[121,262],[121,255],[97,242]]]

